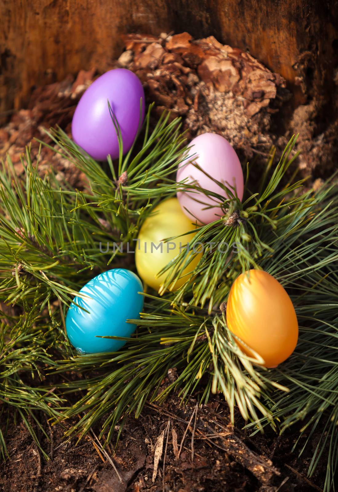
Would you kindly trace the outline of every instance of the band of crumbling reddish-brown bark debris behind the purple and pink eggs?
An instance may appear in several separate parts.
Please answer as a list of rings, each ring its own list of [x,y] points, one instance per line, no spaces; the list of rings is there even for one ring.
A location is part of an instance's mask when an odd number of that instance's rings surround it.
[[[123,40],[127,50],[118,60],[111,60],[109,68],[128,68],[140,77],[147,102],[155,102],[153,121],[169,109],[171,119],[183,118],[188,140],[206,131],[219,133],[233,145],[241,160],[258,156],[256,164],[264,163],[273,144],[280,154],[292,133],[299,132],[296,150],[301,151],[297,160],[301,175],[327,178],[335,170],[338,123],[337,118],[331,118],[335,105],[325,111],[327,122],[319,116],[323,101],[315,97],[298,106],[292,115],[293,101],[287,102],[290,94],[284,79],[246,51],[222,45],[213,36],[195,40],[187,32],[127,34]],[[306,71],[309,58],[304,55],[302,60],[300,66]],[[20,174],[24,171],[20,155],[31,138],[46,139],[43,128],[58,124],[70,134],[76,103],[95,77],[95,69],[81,70],[75,81],[67,76],[61,82],[37,88],[29,109],[14,113],[1,131],[0,157],[8,152]],[[337,101],[337,74],[333,88],[332,98]],[[286,131],[275,135],[277,127],[283,125]],[[38,143],[33,140],[33,158],[37,152]],[[83,187],[79,171],[44,148],[41,173],[48,172],[51,165],[60,179],[65,176],[71,184]],[[256,169],[259,173],[259,167]]]

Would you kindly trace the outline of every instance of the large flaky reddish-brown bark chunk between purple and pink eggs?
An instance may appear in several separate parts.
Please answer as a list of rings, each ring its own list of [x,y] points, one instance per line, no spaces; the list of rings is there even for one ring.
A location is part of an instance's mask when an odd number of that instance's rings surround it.
[[[123,39],[134,53],[127,68],[140,77],[148,101],[155,101],[158,114],[169,109],[184,116],[188,138],[215,131],[246,157],[256,149],[268,152],[271,115],[285,95],[280,75],[214,36],[195,40],[183,32]]]

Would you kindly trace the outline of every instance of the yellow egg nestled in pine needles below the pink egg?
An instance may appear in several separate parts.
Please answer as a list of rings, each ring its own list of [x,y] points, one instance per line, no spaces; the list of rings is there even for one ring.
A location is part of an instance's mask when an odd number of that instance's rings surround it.
[[[196,226],[182,212],[177,198],[164,200],[154,208],[152,214],[144,221],[135,247],[135,262],[139,276],[151,287],[160,289],[161,283],[167,277],[169,271],[158,276],[158,273],[168,263],[175,258],[181,251],[184,251],[186,244],[191,242],[196,234],[192,232],[186,236],[182,234],[193,231]],[[164,243],[165,239],[179,236],[178,238]],[[197,246],[196,246],[197,250]],[[192,254],[192,247],[190,247]],[[191,262],[185,267],[181,276],[176,282],[172,282],[170,290],[179,289],[190,277],[201,254],[196,254]]]

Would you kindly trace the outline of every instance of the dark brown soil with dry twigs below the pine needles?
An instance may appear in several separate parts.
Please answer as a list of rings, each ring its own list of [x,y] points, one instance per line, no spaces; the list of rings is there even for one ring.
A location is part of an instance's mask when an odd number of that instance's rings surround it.
[[[67,422],[66,427],[71,425]],[[147,405],[139,419],[130,417],[114,448],[102,450],[92,431],[78,445],[65,442],[60,426],[49,427],[51,457],[45,461],[23,423],[8,435],[11,460],[0,465],[0,490],[4,492],[286,492],[320,491],[325,458],[311,481],[306,471],[312,446],[300,459],[291,453],[298,431],[281,437],[273,431],[249,437],[237,416],[229,423],[227,406],[215,396],[202,407],[190,398],[180,405],[174,395],[164,405]],[[116,429],[118,431],[118,429]],[[114,437],[113,437],[114,439]],[[157,457],[157,460],[156,460]],[[156,465],[157,462],[157,465]],[[155,475],[155,478],[154,478]]]

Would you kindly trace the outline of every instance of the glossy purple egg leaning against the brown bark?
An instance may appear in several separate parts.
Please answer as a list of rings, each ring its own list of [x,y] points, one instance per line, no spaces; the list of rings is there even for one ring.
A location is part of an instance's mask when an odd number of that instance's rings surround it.
[[[108,100],[120,125],[123,154],[130,150],[144,119],[144,91],[133,72],[115,68],[98,77],[81,97],[72,121],[74,141],[97,160],[105,160],[108,154],[112,159],[119,156],[119,142]]]

